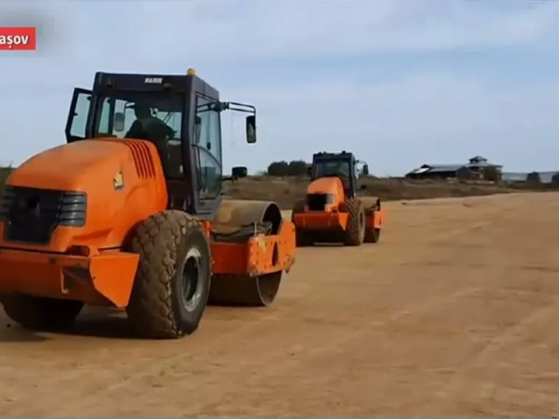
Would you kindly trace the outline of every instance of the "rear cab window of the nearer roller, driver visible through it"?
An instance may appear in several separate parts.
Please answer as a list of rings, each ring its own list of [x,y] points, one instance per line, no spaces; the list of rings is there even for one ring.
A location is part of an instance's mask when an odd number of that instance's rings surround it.
[[[168,92],[115,91],[99,96],[94,137],[165,140],[180,144],[182,96]]]

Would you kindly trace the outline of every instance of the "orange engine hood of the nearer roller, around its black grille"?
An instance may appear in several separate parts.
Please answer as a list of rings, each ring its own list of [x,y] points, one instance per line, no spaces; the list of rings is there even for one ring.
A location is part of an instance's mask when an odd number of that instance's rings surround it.
[[[84,226],[57,227],[48,247],[17,244],[55,252],[77,244],[120,247],[133,226],[164,210],[168,200],[157,149],[140,140],[96,138],[48,149],[15,169],[8,185],[85,193]],[[0,244],[1,237],[0,223]]]

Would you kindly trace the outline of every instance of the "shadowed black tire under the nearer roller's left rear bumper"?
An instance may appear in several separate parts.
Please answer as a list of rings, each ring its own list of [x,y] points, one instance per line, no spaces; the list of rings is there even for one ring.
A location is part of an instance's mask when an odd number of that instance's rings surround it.
[[[20,294],[2,295],[0,301],[9,318],[31,330],[66,330],[84,306],[81,301]]]

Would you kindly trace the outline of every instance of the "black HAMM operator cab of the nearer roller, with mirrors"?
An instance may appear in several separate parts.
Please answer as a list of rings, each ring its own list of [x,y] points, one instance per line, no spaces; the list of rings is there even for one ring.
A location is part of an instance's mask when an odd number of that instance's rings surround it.
[[[74,89],[66,141],[92,138],[148,140],[157,147],[168,186],[168,207],[210,219],[222,182],[247,169],[222,173],[221,113],[246,112],[247,142],[256,142],[256,108],[219,101],[219,91],[187,75],[96,73],[92,90]]]

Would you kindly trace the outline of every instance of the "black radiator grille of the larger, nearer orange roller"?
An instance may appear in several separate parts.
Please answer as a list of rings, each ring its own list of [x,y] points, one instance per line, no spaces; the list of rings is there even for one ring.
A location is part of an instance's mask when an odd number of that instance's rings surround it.
[[[86,208],[84,192],[6,186],[0,200],[4,240],[48,244],[58,226],[84,226]]]

